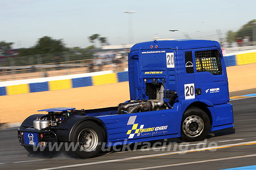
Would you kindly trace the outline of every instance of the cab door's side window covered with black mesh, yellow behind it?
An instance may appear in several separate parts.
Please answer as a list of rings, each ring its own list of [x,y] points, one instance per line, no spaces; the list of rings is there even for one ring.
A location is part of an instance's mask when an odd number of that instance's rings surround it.
[[[213,75],[222,74],[222,63],[218,50],[195,51],[197,72],[210,72]]]

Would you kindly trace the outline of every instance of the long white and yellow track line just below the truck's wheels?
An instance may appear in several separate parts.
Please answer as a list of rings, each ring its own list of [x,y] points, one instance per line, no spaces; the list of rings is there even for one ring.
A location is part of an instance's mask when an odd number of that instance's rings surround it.
[[[225,148],[225,147],[227,148],[227,147],[234,147],[234,146],[241,146],[241,145],[255,145],[255,143],[256,143],[256,141],[250,141],[250,142],[242,142],[242,143],[229,144],[229,145],[206,147],[206,148],[201,148],[201,149],[191,149],[191,150],[186,150],[186,151],[159,153],[159,154],[144,155],[144,156],[138,156],[138,157],[126,157],[126,158],[122,158],[122,159],[112,159],[112,160],[107,160],[107,161],[91,162],[91,163],[85,163],[85,164],[73,164],[73,165],[58,166],[58,167],[38,169],[38,170],[56,170],[56,169],[62,169],[62,168],[71,168],[71,167],[86,166],[86,165],[93,165],[93,164],[104,164],[104,163],[127,161],[127,160],[139,159],[139,158],[166,156],[166,155],[171,155],[171,154],[187,153],[187,152],[192,152],[192,151],[206,151],[206,150]]]

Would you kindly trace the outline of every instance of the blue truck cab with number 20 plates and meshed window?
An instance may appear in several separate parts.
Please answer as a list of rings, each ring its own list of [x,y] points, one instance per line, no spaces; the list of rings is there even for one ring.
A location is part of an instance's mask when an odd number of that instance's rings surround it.
[[[207,110],[211,131],[233,126],[226,66],[218,42],[171,40],[135,44],[128,57],[131,100],[150,99],[150,82],[164,80],[175,91],[182,113],[192,106]]]

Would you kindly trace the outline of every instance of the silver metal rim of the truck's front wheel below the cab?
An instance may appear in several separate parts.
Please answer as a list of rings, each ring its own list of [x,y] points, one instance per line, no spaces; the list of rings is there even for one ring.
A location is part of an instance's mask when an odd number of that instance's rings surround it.
[[[204,128],[203,120],[198,116],[189,116],[184,120],[182,129],[183,132],[191,138],[199,136]]]

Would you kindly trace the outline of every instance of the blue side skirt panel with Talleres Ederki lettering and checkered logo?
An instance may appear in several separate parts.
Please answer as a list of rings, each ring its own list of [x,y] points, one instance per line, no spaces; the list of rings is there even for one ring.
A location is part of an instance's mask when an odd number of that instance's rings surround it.
[[[142,142],[148,138],[167,139],[180,137],[182,108],[175,103],[173,109],[132,114],[99,116],[106,126],[108,146]],[[153,140],[153,139],[152,139]]]

